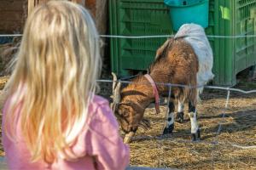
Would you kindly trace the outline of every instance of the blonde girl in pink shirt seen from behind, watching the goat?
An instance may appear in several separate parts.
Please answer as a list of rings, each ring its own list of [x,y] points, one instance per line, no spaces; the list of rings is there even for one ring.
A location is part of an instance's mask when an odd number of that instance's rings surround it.
[[[129,148],[108,101],[95,95],[99,36],[90,14],[67,1],[26,20],[5,90],[3,148],[10,169],[124,169]]]

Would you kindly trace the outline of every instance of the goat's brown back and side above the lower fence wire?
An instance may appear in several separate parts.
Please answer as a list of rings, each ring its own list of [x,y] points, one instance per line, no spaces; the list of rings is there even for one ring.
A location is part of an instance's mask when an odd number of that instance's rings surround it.
[[[160,78],[159,82],[191,84],[196,82],[198,59],[193,48],[182,38],[169,39],[161,47],[155,62],[150,67],[150,74]],[[192,81],[193,79],[193,81]]]

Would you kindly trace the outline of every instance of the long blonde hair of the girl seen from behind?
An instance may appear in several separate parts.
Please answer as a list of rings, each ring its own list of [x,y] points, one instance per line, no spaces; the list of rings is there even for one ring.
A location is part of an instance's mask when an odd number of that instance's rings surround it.
[[[15,139],[20,128],[32,161],[76,158],[70,146],[84,127],[102,68],[98,39],[90,14],[76,3],[49,1],[28,17],[6,86],[12,97],[5,131]]]

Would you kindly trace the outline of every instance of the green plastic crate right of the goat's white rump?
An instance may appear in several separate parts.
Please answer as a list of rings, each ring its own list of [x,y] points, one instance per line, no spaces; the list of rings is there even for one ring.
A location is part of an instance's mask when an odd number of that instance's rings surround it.
[[[212,3],[213,35],[255,35],[256,15],[253,13],[256,9],[256,0],[214,0]],[[214,38],[214,82],[220,85],[235,85],[238,72],[256,65],[255,45],[254,37]]]

